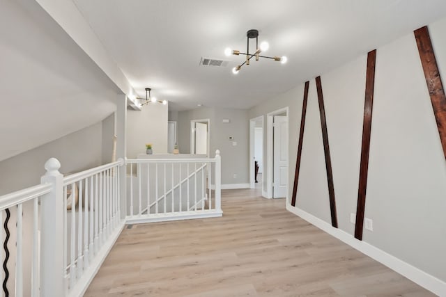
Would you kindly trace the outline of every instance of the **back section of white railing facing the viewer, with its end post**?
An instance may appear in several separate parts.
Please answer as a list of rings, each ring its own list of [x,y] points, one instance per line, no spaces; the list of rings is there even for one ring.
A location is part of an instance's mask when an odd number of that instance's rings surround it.
[[[220,151],[213,159],[128,159],[126,163],[128,223],[222,216]],[[213,179],[215,195],[210,186]]]

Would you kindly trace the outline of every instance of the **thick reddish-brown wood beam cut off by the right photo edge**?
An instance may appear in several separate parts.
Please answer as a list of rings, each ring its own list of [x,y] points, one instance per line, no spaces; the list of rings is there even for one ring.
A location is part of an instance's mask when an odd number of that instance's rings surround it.
[[[431,97],[433,114],[437,121],[438,134],[446,157],[446,96],[441,81],[440,72],[433,52],[429,29],[424,26],[414,31],[418,52],[423,66],[424,77]]]

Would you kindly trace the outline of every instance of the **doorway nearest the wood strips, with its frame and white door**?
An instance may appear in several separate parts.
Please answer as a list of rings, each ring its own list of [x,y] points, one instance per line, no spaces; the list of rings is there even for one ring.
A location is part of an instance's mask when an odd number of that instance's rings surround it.
[[[279,109],[267,115],[267,198],[288,197],[289,168],[289,108]]]

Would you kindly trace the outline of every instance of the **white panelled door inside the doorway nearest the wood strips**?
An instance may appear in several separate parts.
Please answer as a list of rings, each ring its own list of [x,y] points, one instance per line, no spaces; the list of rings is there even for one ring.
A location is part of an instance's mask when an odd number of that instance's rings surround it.
[[[273,129],[273,181],[272,198],[285,198],[288,191],[288,137],[287,117],[274,116]]]

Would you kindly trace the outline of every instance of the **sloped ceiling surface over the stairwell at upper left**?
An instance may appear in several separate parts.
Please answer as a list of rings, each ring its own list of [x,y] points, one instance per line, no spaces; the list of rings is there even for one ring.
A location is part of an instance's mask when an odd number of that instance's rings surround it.
[[[0,161],[116,109],[114,83],[35,1],[0,6]]]

